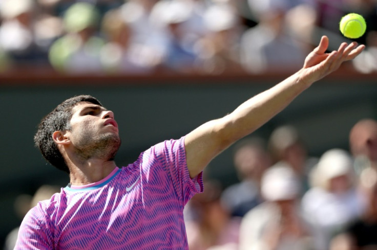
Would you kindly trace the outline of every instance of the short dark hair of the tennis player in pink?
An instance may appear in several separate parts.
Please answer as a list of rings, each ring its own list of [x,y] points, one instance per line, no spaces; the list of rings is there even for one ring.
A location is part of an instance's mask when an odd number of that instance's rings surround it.
[[[52,139],[52,134],[55,131],[71,129],[72,108],[79,102],[91,102],[102,106],[96,98],[89,95],[75,96],[67,99],[40,121],[38,130],[34,135],[35,146],[39,148],[45,159],[52,166],[67,173],[70,173],[69,168]]]

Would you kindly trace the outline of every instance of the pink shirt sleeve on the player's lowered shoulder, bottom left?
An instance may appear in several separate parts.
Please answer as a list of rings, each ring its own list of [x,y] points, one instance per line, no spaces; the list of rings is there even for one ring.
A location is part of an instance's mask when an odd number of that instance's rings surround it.
[[[53,249],[51,231],[40,204],[32,208],[22,221],[14,250]]]

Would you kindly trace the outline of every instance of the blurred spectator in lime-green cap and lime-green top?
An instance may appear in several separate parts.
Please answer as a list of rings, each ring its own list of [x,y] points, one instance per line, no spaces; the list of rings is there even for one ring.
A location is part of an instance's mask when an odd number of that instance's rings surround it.
[[[95,35],[99,14],[88,3],[72,5],[64,15],[68,32],[56,40],[50,49],[49,58],[54,68],[68,73],[102,73],[100,50],[104,40]]]

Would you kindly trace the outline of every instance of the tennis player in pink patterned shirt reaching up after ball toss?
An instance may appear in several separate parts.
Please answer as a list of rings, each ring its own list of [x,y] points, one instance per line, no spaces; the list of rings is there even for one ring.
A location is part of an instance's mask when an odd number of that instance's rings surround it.
[[[326,53],[327,47],[324,36],[294,75],[229,115],[149,148],[127,167],[114,162],[120,146],[114,113],[91,96],[62,102],[34,139],[48,162],[69,173],[70,184],[28,212],[15,249],[188,249],[183,208],[202,192],[205,166],[365,48],[342,43]]]

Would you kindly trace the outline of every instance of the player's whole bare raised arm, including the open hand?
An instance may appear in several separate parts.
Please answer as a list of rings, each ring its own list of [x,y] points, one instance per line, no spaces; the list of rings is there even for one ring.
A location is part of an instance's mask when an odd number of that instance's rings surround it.
[[[300,71],[250,98],[229,115],[187,134],[184,143],[190,176],[198,175],[216,155],[274,117],[313,82],[337,70],[344,61],[355,58],[365,46],[342,43],[337,51],[325,53],[327,48],[328,38],[323,36]]]

